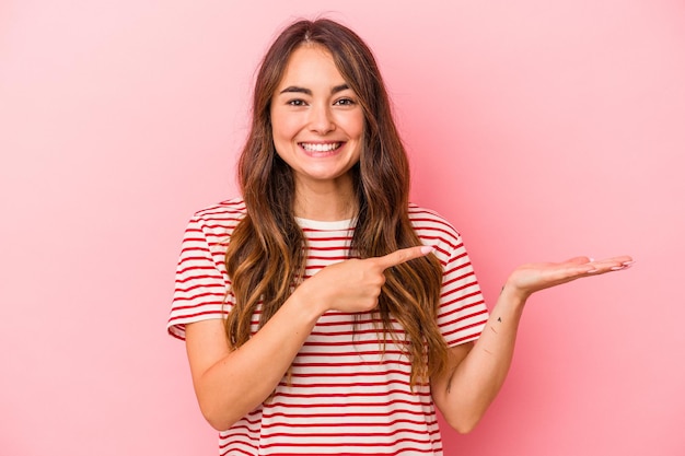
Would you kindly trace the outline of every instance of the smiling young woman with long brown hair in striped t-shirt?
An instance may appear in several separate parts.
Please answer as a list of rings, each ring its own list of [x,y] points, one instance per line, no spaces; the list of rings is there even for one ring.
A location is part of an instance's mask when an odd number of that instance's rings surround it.
[[[169,321],[224,455],[441,455],[436,407],[476,425],[526,299],[631,264],[519,267],[489,315],[460,235],[408,201],[371,51],[328,20],[267,51],[239,177],[188,225]]]

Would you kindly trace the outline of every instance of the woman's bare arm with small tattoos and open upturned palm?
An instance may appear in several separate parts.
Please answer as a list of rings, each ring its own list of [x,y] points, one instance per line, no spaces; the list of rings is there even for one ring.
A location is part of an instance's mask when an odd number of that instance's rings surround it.
[[[446,422],[472,431],[499,393],[511,360],[523,307],[531,294],[577,279],[628,268],[629,256],[600,261],[578,257],[560,264],[516,268],[502,288],[480,338],[450,349],[449,366],[431,378],[431,394]]]

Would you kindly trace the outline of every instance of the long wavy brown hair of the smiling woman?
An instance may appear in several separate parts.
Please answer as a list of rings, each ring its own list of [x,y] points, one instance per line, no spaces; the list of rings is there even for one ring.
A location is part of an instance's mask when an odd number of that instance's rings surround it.
[[[291,54],[303,44],[325,47],[364,114],[361,157],[351,169],[358,213],[351,252],[376,257],[421,245],[408,215],[409,166],[392,116],[391,103],[369,47],[351,30],[327,19],[288,26],[259,67],[253,100],[252,129],[237,167],[246,217],[231,235],[225,266],[235,305],[225,320],[231,348],[251,337],[251,320],[262,303],[259,327],[301,283],[306,242],[295,222],[291,168],[275,151],[270,103]],[[436,321],[442,267],[433,255],[386,270],[379,297],[379,334],[396,339],[393,320],[406,334],[411,385],[446,365],[448,347]],[[385,342],[383,342],[385,343]]]

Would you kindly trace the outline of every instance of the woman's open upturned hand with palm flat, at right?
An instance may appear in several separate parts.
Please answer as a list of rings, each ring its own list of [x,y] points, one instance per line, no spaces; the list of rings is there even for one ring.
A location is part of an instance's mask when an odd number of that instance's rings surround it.
[[[632,258],[627,255],[602,260],[576,257],[564,262],[527,264],[514,269],[504,288],[509,288],[510,292],[525,301],[536,291],[585,277],[620,271],[632,264]]]

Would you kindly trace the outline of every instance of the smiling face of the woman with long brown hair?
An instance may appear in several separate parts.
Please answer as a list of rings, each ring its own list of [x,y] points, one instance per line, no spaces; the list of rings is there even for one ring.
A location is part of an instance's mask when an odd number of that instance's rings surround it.
[[[271,100],[271,128],[276,152],[293,169],[299,190],[349,183],[363,124],[357,94],[330,52],[318,45],[295,49]]]

